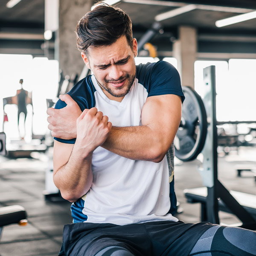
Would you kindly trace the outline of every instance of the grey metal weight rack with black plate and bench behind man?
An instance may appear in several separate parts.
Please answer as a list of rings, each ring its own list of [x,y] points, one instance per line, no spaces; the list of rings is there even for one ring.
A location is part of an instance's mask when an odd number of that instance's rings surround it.
[[[205,186],[185,189],[185,197],[190,203],[201,203],[202,221],[219,224],[219,210],[224,210],[241,220],[240,227],[256,230],[256,195],[229,191],[218,180],[215,66],[204,69],[202,99],[192,89],[189,91],[195,97],[186,93],[187,88],[183,89],[187,103],[183,105],[181,125],[175,137],[175,155],[189,161],[202,153],[202,167],[198,171]]]

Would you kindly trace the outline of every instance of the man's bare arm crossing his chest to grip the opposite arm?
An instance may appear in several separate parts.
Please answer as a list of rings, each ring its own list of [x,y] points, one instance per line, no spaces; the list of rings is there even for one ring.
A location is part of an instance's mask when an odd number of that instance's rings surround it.
[[[65,97],[71,99],[70,96]],[[68,99],[68,100],[69,100]],[[74,101],[73,101],[74,102]],[[79,108],[78,105],[73,105],[73,108]],[[65,108],[64,108],[65,109]],[[58,114],[61,115],[59,110]],[[47,112],[51,119],[48,119],[49,129],[52,130],[52,135],[58,137],[65,131],[65,123],[53,125],[51,121],[56,120],[55,110],[49,109]],[[73,111],[76,112],[76,111]],[[72,117],[73,119],[77,117]],[[166,152],[174,140],[175,134],[180,124],[181,119],[181,99],[177,95],[167,94],[161,96],[151,96],[143,106],[141,126],[133,127],[113,127],[110,131],[108,139],[102,147],[135,160],[149,160],[159,162],[163,159]],[[70,120],[69,120],[70,121]],[[69,122],[69,125],[72,125]],[[63,127],[63,128],[58,128]],[[73,125],[74,126],[74,125]],[[67,129],[69,133],[65,133],[66,137],[73,138],[74,128]]]

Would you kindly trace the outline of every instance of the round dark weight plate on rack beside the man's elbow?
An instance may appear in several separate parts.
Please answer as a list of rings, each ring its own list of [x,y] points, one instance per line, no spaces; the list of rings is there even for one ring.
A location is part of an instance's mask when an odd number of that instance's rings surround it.
[[[207,114],[204,102],[191,87],[183,87],[180,127],[174,140],[175,156],[182,161],[194,160],[204,148],[207,135]]]

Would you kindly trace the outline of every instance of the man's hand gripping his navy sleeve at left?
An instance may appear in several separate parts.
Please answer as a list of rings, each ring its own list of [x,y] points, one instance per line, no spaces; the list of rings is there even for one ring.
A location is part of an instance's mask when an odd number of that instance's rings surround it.
[[[47,109],[48,128],[52,131],[52,137],[70,140],[76,138],[76,119],[82,111],[70,95],[60,95],[60,99],[66,102],[67,106],[61,109]]]

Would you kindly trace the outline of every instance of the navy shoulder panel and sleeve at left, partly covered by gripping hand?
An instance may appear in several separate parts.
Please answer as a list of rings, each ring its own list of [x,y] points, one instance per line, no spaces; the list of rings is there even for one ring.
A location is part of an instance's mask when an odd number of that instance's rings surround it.
[[[72,99],[76,101],[81,111],[84,111],[84,109],[86,108],[90,109],[95,107],[95,103],[96,103],[95,97],[94,97],[95,91],[96,89],[91,80],[91,76],[87,76],[86,78],[77,82],[67,94],[69,94],[72,97]],[[61,99],[59,99],[58,102],[55,104],[55,108],[57,109],[61,109],[66,106],[67,106],[66,102],[61,101]],[[54,137],[54,139],[62,143],[71,143],[71,144],[74,144],[76,141],[76,139],[64,140],[56,137]]]

